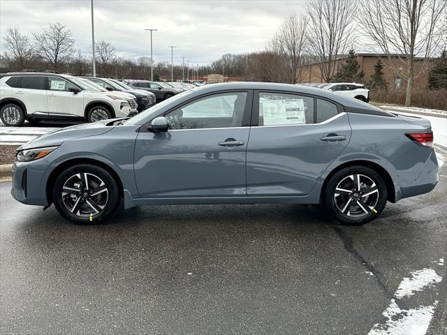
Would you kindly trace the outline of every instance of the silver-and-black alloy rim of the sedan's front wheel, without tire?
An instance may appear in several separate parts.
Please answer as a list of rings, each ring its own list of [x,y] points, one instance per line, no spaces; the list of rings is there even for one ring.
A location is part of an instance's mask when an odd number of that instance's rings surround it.
[[[62,202],[76,216],[101,213],[108,202],[108,188],[104,181],[91,173],[77,173],[62,187]]]

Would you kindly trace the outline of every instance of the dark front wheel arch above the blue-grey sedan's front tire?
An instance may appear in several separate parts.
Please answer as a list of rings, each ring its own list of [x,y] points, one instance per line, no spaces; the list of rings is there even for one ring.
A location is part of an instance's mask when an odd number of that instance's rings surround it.
[[[64,161],[64,162],[60,163],[50,172],[50,176],[47,179],[47,184],[46,184],[46,188],[45,188],[45,194],[47,197],[48,204],[51,204],[53,202],[52,188],[54,187],[54,182],[56,181],[57,176],[62,171],[64,171],[66,168],[69,168],[73,165],[78,165],[78,164],[96,165],[96,166],[99,166],[100,168],[103,168],[105,171],[109,172],[110,175],[112,176],[112,178],[117,183],[117,187],[119,190],[119,197],[121,197],[121,198],[124,197],[124,186],[122,184],[122,180],[119,178],[117,172],[112,167],[110,167],[110,165],[108,165],[102,161],[98,161],[94,158],[71,158],[68,161]]]

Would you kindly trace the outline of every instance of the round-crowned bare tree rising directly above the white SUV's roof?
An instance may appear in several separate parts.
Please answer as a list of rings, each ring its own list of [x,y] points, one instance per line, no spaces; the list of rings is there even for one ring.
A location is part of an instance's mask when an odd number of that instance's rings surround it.
[[[71,30],[59,22],[50,23],[41,34],[33,34],[36,52],[48,61],[53,70],[68,62],[75,40]]]

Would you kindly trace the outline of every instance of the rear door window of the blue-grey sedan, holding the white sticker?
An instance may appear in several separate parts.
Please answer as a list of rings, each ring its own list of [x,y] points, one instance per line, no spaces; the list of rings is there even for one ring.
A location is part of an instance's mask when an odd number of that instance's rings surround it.
[[[313,123],[314,98],[295,94],[259,94],[259,126]]]

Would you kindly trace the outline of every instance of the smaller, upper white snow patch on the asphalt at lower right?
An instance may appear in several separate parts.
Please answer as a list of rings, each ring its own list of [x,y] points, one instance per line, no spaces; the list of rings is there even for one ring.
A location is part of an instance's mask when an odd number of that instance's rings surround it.
[[[402,299],[414,295],[416,291],[422,291],[427,286],[440,283],[442,277],[438,276],[434,269],[422,269],[411,272],[411,278],[404,278],[395,292],[395,297]]]

